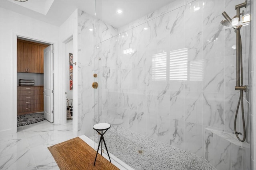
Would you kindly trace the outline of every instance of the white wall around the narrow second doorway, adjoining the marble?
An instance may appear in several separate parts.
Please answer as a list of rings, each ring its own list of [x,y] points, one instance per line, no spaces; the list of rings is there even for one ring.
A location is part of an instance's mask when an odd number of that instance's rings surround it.
[[[58,110],[60,111],[61,115],[60,115],[60,123],[61,124],[65,124],[66,123],[66,72],[68,72],[69,70],[67,70],[66,68],[66,52],[68,49],[72,49],[72,53],[73,53],[73,61],[76,62],[77,61],[77,53],[78,53],[78,10],[76,9],[71,15],[70,17],[64,22],[62,23],[62,25],[60,25],[60,29],[59,29],[59,39],[60,39],[60,54],[61,54],[61,60],[59,61],[60,67],[59,67],[59,71],[63,72],[64,74],[62,75],[62,77],[60,78],[59,86],[58,86],[58,91],[60,91],[60,96],[58,96],[58,98],[60,99],[60,107],[58,108]],[[72,47],[71,45],[68,47],[68,49],[66,49],[66,44],[70,41],[70,39],[72,39]],[[74,50],[76,49],[76,50]],[[77,117],[77,66],[73,65],[73,130],[77,131],[78,130],[78,117]]]

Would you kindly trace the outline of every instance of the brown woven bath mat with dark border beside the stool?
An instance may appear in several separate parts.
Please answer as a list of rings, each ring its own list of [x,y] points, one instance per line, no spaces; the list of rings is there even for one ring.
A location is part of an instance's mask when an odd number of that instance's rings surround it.
[[[79,137],[48,147],[60,170],[119,170]]]

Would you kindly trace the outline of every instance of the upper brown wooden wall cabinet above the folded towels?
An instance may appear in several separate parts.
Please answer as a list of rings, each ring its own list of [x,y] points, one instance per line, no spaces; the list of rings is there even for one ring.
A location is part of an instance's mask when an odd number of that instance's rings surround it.
[[[44,49],[47,46],[18,39],[17,72],[44,73]]]

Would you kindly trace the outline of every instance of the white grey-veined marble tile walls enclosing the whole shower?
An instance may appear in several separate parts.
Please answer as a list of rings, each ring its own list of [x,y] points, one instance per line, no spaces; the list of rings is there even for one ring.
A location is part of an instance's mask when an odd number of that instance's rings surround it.
[[[88,31],[93,25],[92,18],[80,12],[82,134],[92,135],[92,125],[102,120],[202,156],[218,169],[248,169],[245,165],[250,149],[218,140],[205,129],[234,131],[239,98],[234,90],[236,50],[232,49],[236,36],[233,29],[223,27],[220,21],[224,19],[223,11],[233,17],[235,5],[242,2],[176,1],[118,29],[96,20],[95,63],[94,37]],[[196,7],[200,9],[194,11]],[[244,84],[248,84],[249,30],[246,26],[241,30]],[[134,53],[124,54],[126,49]],[[179,50],[187,53],[187,76],[183,80],[173,77],[168,65],[170,57]],[[165,78],[157,81],[153,57],[163,55],[166,56]],[[96,98],[91,88],[94,72],[98,73],[95,80],[99,82]],[[249,100],[246,96],[244,99],[248,105]],[[245,113],[247,109],[245,106]],[[242,124],[238,123],[242,131]]]

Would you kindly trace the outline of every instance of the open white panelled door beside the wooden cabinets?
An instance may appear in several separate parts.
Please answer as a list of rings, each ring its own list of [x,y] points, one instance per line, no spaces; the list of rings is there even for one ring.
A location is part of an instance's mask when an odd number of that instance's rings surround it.
[[[53,45],[44,49],[44,118],[53,122]]]

